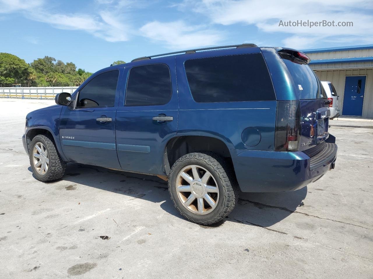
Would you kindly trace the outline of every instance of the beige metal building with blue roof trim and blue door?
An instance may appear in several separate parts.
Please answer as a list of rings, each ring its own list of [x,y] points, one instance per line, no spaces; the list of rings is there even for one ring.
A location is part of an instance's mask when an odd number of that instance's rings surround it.
[[[373,45],[303,50],[320,80],[331,81],[341,115],[373,118]]]

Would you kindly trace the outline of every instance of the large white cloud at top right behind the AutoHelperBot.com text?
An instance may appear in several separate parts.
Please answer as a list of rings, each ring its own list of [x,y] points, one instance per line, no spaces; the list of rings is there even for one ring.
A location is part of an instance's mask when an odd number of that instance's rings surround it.
[[[283,40],[290,47],[308,48],[316,44],[317,40],[352,36],[359,39],[353,44],[358,44],[372,37],[373,14],[369,12],[372,9],[371,0],[313,0],[302,3],[294,0],[185,0],[179,4],[181,10],[188,7],[208,17],[211,23],[255,25],[260,31],[268,33],[293,34]],[[281,27],[280,20],[352,21],[353,27]]]

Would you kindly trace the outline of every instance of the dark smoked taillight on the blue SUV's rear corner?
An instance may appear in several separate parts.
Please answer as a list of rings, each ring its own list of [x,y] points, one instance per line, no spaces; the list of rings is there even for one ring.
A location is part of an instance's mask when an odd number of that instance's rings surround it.
[[[300,103],[278,101],[275,128],[275,151],[296,151],[300,146]]]

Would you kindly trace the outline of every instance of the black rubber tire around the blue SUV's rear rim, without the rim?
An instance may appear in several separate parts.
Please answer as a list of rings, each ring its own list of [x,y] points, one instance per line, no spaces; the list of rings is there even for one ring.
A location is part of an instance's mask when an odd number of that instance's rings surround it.
[[[216,207],[208,214],[198,215],[189,211],[178,197],[176,179],[179,172],[189,165],[203,167],[216,180],[219,200]],[[180,214],[187,220],[201,225],[212,225],[225,218],[233,210],[239,195],[239,187],[232,167],[222,157],[210,152],[189,153],[179,158],[171,168],[168,189],[173,204]]]

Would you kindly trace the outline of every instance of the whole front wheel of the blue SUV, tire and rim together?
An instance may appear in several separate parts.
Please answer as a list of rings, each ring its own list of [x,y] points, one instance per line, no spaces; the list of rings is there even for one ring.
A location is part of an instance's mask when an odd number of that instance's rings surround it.
[[[46,135],[36,135],[32,139],[29,158],[37,180],[53,181],[65,173],[66,163],[61,159],[54,142]]]

